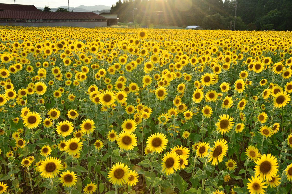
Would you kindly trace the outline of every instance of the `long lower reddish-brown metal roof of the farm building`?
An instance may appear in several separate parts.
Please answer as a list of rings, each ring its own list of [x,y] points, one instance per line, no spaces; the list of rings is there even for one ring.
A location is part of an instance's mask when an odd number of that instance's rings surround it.
[[[106,19],[93,12],[0,11],[0,19]]]

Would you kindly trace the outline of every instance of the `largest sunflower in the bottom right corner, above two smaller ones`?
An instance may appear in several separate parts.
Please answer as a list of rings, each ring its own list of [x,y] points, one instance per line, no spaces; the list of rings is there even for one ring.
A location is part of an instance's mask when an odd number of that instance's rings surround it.
[[[272,180],[272,177],[277,175],[278,161],[275,156],[263,154],[255,163],[255,176],[261,177],[264,180]]]

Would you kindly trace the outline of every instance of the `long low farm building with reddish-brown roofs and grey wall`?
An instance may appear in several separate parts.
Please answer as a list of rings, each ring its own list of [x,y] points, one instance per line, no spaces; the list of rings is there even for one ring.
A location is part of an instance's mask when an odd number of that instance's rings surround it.
[[[107,19],[93,12],[42,12],[33,5],[0,3],[1,26],[106,27]]]

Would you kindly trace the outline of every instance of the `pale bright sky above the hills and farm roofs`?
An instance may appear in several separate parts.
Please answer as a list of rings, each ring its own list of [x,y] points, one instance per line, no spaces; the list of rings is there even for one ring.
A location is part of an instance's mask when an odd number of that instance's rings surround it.
[[[112,6],[119,0],[69,0],[70,7],[78,7],[80,5],[84,6],[95,6],[95,5],[105,5]],[[14,0],[0,0],[0,3],[12,3]],[[60,6],[68,6],[68,0],[15,0],[16,4],[24,5],[34,5],[36,7],[49,6],[50,8],[57,8]]]

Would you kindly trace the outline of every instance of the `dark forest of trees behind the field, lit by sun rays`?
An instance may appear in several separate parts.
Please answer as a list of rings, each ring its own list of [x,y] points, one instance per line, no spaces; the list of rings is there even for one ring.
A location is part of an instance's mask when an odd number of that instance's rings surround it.
[[[236,30],[292,30],[291,0],[119,0],[111,12],[119,22],[133,22],[134,11],[142,25],[230,29],[236,2]]]

